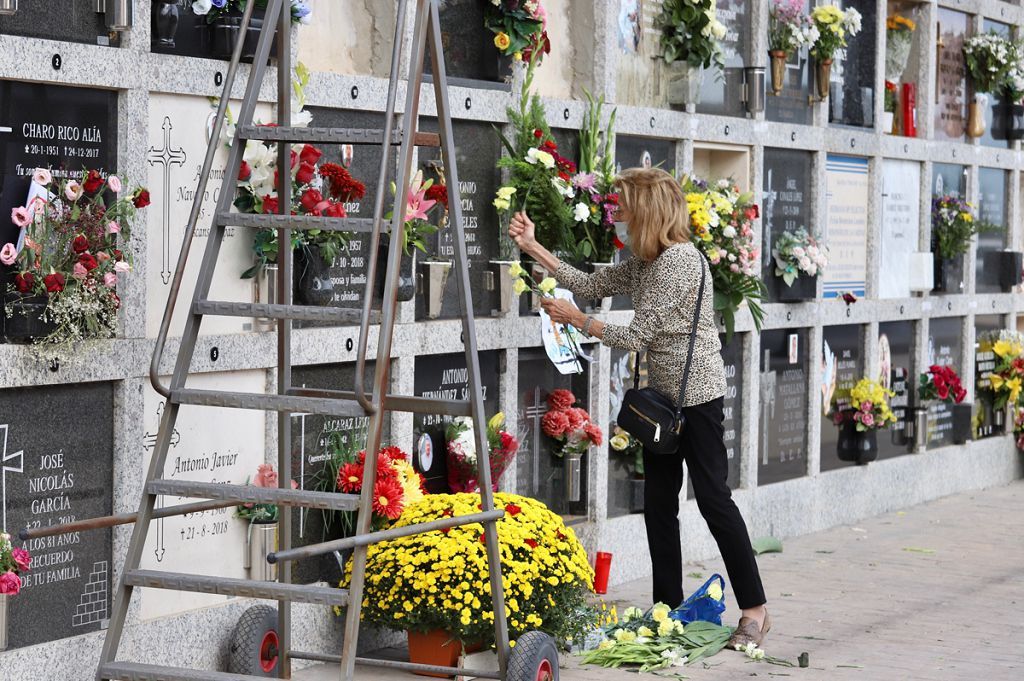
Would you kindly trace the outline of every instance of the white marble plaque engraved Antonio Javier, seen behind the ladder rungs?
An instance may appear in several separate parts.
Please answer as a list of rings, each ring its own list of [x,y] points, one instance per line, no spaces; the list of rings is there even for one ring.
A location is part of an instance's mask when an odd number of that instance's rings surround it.
[[[262,394],[266,391],[266,372],[198,374],[189,377],[188,387]],[[164,398],[147,383],[143,394],[144,434],[138,443],[145,467],[154,453],[164,408]],[[273,417],[249,410],[182,407],[171,434],[163,477],[246,484],[255,477],[257,467],[267,461],[267,418]],[[276,461],[276,452],[270,460]],[[193,501],[158,497],[157,507]],[[248,529],[247,520],[234,517],[234,508],[156,520],[150,525],[141,567],[245,579],[243,555]],[[151,620],[176,614],[224,600],[224,596],[146,589],[142,592],[141,618]]]

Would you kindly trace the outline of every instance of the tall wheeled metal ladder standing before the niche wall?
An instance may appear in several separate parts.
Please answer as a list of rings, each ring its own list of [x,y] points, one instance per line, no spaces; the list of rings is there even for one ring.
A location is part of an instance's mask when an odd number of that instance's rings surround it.
[[[415,0],[414,11],[416,15],[412,55],[409,63],[409,87],[403,112],[404,121],[400,130],[393,129],[393,119],[399,85],[401,39],[404,33],[406,14],[410,4],[409,0],[399,0],[397,3],[395,41],[391,54],[387,111],[383,130],[298,128],[292,126],[290,111],[292,74],[291,16],[288,10],[289,4],[285,0],[267,0],[266,16],[260,33],[258,47],[256,48],[250,79],[243,98],[236,139],[230,147],[227,168],[224,172],[218,205],[213,218],[213,227],[210,231],[206,252],[203,256],[202,266],[180,341],[174,371],[171,375],[170,385],[164,385],[160,379],[161,358],[164,354],[171,317],[180,291],[184,265],[188,258],[193,236],[195,235],[201,213],[201,201],[206,193],[207,178],[209,177],[214,154],[224,126],[227,102],[238,74],[243,40],[252,17],[254,4],[250,2],[246,7],[240,32],[241,38],[238,45],[236,45],[234,53],[224,79],[224,89],[220,98],[216,124],[211,136],[210,147],[207,151],[203,164],[199,188],[193,203],[188,226],[185,230],[184,242],[178,257],[177,269],[171,285],[170,295],[164,310],[160,334],[156,341],[153,361],[150,368],[151,381],[156,390],[166,397],[167,406],[161,416],[160,432],[146,474],[138,512],[78,521],[39,530],[24,530],[22,537],[23,539],[31,539],[134,523],[124,568],[114,592],[114,605],[110,627],[106,631],[99,667],[96,672],[97,681],[228,681],[256,678],[223,672],[207,672],[119,662],[117,659],[118,648],[121,643],[128,613],[129,601],[131,600],[133,591],[139,587],[276,600],[279,601],[278,635],[281,641],[279,654],[280,678],[291,678],[292,659],[314,659],[340,663],[341,678],[348,681],[355,678],[354,666],[356,664],[443,674],[456,674],[458,672],[458,670],[443,667],[356,657],[359,613],[366,577],[367,549],[371,544],[381,541],[480,522],[484,527],[486,543],[490,593],[495,610],[495,639],[497,641],[496,648],[499,669],[496,672],[474,672],[474,674],[484,678],[505,679],[507,678],[510,647],[501,579],[498,533],[495,524],[504,515],[504,510],[494,510],[495,503],[490,486],[490,467],[488,462],[489,450],[486,441],[480,367],[477,357],[476,333],[469,288],[469,263],[463,233],[462,207],[459,200],[459,174],[456,165],[452,113],[447,97],[444,58],[441,49],[437,0]],[[267,60],[270,56],[274,33],[278,35],[279,125],[275,127],[256,126],[254,124],[254,114],[260,86],[267,70]],[[420,112],[420,85],[423,83],[424,58],[428,50],[433,73],[435,74],[432,81],[437,107],[439,135],[429,135],[417,131]],[[280,201],[281,214],[279,215],[231,213],[232,198],[236,194],[234,182],[239,176],[243,152],[248,140],[276,143],[279,168],[288,168],[290,166],[291,143],[293,142],[381,144],[384,153],[382,154],[379,182],[374,203],[374,217],[372,219],[360,219],[292,216],[289,214],[291,205],[287,201]],[[428,399],[415,396],[391,395],[385,391],[397,306],[396,295],[401,257],[401,235],[406,216],[404,187],[408,187],[411,182],[414,147],[416,145],[437,146],[438,144],[441,150],[444,168],[447,172],[447,184],[452,193],[450,201],[452,216],[450,228],[455,230],[455,239],[453,240],[455,247],[455,279],[459,286],[460,303],[463,312],[463,336],[470,386],[470,398],[468,400]],[[364,379],[367,365],[368,339],[370,336],[370,317],[375,296],[374,283],[376,280],[377,253],[383,231],[382,227],[384,226],[382,216],[384,214],[384,191],[386,190],[390,152],[391,147],[395,145],[399,148],[397,159],[397,186],[399,190],[395,193],[396,196],[392,210],[393,218],[390,223],[392,238],[390,239],[383,303],[381,304],[380,311],[373,386],[372,390],[367,393]],[[291,182],[290,173],[279,173],[279,197],[292,196]],[[367,289],[362,300],[362,309],[325,308],[290,304],[292,299],[292,253],[291,249],[288,248],[280,249],[279,253],[278,295],[280,296],[279,300],[283,302],[265,304],[208,299],[217,255],[224,238],[225,228],[228,226],[276,229],[279,244],[291,243],[292,229],[331,229],[372,235],[370,253],[367,259],[369,271],[367,273]],[[200,324],[206,315],[269,317],[278,320],[276,394],[197,390],[186,387],[186,378],[199,337]],[[308,390],[292,386],[291,342],[292,322],[295,320],[331,321],[338,324],[358,323],[359,342],[353,390]],[[278,412],[278,469],[282,471],[280,488],[161,479],[168,448],[171,442],[171,435],[174,432],[175,421],[181,405]],[[372,494],[377,470],[377,452],[380,449],[382,426],[386,412],[388,411],[473,417],[476,425],[475,430],[479,437],[477,451],[480,453],[478,479],[482,502],[481,509],[483,509],[481,512],[460,517],[443,518],[411,527],[387,529],[377,533],[370,531]],[[291,477],[286,472],[291,470],[290,414],[292,413],[370,418],[367,441],[367,465],[365,466],[360,495],[305,492],[291,490],[287,486]],[[206,501],[157,509],[155,508],[157,497],[162,495]],[[153,520],[203,510],[227,508],[242,503],[276,504],[281,507],[280,550],[268,556],[268,560],[271,562],[280,563],[278,582],[253,582],[249,580],[161,572],[139,568],[143,545],[150,523]],[[291,508],[293,506],[337,511],[357,511],[355,536],[297,549],[292,548]],[[291,584],[292,561],[343,549],[353,549],[353,570],[348,590]],[[345,615],[344,644],[341,655],[292,650],[290,636],[291,602],[315,603],[325,606],[348,606]]]

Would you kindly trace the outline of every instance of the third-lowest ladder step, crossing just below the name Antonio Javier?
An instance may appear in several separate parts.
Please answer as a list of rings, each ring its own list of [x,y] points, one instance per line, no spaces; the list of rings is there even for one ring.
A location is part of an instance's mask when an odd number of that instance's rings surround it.
[[[257,487],[254,484],[221,484],[195,480],[150,480],[146,490],[151,495],[188,497],[191,499],[223,499],[241,504],[283,504],[317,508],[327,511],[355,511],[359,507],[358,495],[306,490]]]

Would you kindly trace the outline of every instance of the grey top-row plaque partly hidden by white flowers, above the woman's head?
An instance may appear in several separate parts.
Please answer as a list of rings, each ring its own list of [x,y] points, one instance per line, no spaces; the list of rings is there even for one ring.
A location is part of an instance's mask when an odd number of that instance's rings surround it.
[[[719,76],[716,70],[706,71],[700,88],[699,114],[744,116],[742,101],[743,67],[746,66],[751,43],[751,0],[720,0],[717,5],[718,20],[726,29],[725,38],[719,41],[725,70]]]

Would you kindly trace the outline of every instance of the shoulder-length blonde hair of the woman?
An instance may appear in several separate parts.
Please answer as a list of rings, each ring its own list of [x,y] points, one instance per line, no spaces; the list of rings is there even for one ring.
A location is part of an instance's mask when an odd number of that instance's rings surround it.
[[[629,216],[630,249],[651,261],[690,240],[690,216],[679,180],[660,168],[629,168],[615,178],[618,203]]]

